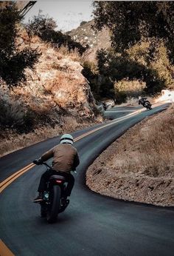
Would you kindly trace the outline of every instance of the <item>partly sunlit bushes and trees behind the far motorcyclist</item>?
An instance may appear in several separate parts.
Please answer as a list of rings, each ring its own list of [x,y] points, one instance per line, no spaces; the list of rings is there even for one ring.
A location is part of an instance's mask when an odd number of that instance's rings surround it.
[[[167,58],[166,48],[164,44],[159,44],[152,61],[149,45],[150,42],[136,44],[124,54],[116,53],[112,48],[98,50],[97,67],[86,61],[83,75],[90,81],[95,98],[114,98],[116,103],[121,103],[127,97],[151,95],[164,88],[171,89],[174,84],[173,68]]]

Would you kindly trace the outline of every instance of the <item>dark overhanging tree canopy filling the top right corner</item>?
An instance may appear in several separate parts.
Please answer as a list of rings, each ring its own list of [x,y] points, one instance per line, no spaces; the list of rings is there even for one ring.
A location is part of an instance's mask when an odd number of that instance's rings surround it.
[[[141,40],[162,39],[174,61],[173,1],[94,1],[94,8],[94,27],[111,30],[116,51],[122,53]]]

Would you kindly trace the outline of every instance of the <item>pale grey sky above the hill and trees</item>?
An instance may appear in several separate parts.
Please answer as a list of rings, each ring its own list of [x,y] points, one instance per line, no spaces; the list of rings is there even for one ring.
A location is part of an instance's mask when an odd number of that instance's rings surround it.
[[[82,1],[37,1],[31,10],[26,14],[24,22],[26,23],[32,16],[37,16],[39,10],[42,14],[54,18],[57,22],[57,30],[63,32],[79,27],[81,21],[90,21],[92,19],[92,0]]]

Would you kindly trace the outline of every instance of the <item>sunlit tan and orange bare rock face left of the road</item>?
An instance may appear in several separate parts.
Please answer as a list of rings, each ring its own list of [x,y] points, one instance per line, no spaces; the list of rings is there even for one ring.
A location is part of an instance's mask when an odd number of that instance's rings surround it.
[[[27,37],[27,36],[26,36]],[[25,38],[25,45],[27,39]],[[21,99],[30,107],[52,107],[65,110],[71,115],[94,118],[95,100],[77,53],[63,54],[45,44],[40,38],[32,38],[30,47],[42,53],[35,70],[26,70],[27,81],[13,90],[15,98]],[[30,104],[31,103],[31,104]]]

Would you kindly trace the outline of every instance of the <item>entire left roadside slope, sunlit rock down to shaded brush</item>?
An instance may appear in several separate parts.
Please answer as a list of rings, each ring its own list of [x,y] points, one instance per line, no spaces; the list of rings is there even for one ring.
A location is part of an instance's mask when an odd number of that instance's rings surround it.
[[[21,38],[21,49],[37,48],[41,57],[34,70],[26,70],[27,81],[13,90],[1,80],[0,155],[99,121],[80,55],[65,47],[55,50],[38,36],[29,40],[24,31]]]

